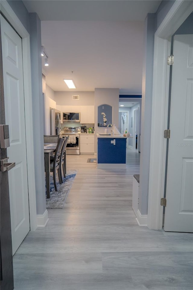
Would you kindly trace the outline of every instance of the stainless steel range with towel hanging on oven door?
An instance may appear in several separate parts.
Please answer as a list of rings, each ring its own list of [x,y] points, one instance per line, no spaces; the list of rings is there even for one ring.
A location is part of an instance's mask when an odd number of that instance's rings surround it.
[[[69,136],[66,146],[67,155],[80,155],[80,133],[81,127],[64,127],[62,138]]]

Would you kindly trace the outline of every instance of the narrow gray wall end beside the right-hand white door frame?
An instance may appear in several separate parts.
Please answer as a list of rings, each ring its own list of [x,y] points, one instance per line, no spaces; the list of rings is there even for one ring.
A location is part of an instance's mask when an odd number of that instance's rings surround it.
[[[141,100],[141,154],[138,206],[141,214],[147,214],[148,204],[154,32],[155,14],[149,13],[147,14],[144,23],[144,62]]]

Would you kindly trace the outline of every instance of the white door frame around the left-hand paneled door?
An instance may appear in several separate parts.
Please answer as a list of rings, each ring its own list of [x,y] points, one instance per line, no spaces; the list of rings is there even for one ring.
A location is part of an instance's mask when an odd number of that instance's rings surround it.
[[[37,228],[35,167],[33,149],[33,119],[32,119],[32,91],[31,91],[31,63],[30,63],[30,34],[27,32],[17,15],[7,1],[1,1],[1,11],[22,37],[23,70],[24,70],[24,100],[25,100],[25,126],[27,150],[27,175],[30,211],[30,230]]]

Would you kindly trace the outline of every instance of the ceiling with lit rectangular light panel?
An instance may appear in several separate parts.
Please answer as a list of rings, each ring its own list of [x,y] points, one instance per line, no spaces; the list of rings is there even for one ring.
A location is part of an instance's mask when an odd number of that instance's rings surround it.
[[[23,1],[41,20],[42,44],[49,66],[46,83],[54,91],[119,88],[141,94],[143,26],[161,1],[43,0]]]

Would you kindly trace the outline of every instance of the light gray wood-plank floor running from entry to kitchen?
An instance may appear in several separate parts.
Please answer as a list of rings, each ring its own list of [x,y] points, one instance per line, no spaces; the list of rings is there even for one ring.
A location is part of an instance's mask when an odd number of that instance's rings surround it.
[[[78,169],[63,209],[49,209],[45,228],[29,232],[14,255],[15,290],[192,290],[192,234],[139,227],[132,176],[140,154],[127,150],[126,169],[96,169],[93,156],[67,156]]]

